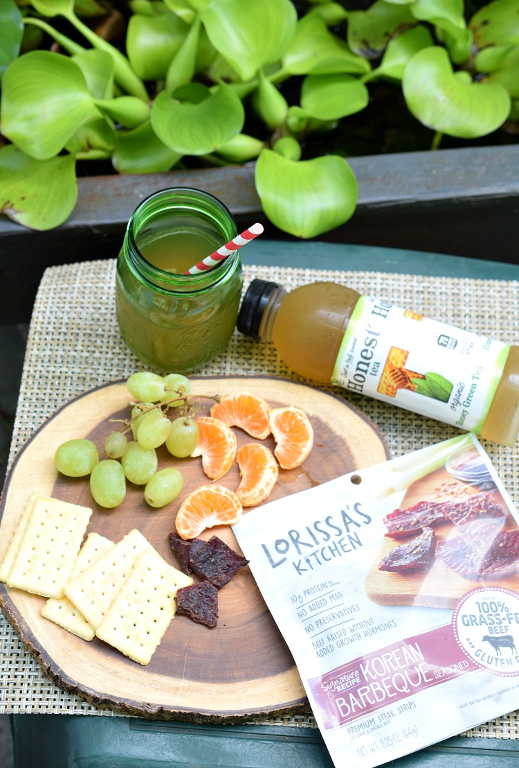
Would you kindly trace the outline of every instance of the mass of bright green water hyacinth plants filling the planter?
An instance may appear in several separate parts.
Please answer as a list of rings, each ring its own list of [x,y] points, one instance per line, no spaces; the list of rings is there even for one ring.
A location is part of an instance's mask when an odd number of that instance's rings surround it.
[[[268,219],[317,237],[355,211],[337,136],[381,83],[433,149],[519,118],[519,0],[128,0],[119,39],[105,2],[0,0],[0,210],[26,227],[67,219],[88,161],[250,162]]]

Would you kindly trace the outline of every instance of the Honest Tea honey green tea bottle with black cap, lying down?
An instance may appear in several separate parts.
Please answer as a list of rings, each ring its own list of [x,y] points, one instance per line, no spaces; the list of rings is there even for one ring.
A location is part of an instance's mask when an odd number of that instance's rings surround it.
[[[519,432],[519,347],[335,283],[287,293],[253,280],[238,329],[273,342],[294,372],[503,445]]]

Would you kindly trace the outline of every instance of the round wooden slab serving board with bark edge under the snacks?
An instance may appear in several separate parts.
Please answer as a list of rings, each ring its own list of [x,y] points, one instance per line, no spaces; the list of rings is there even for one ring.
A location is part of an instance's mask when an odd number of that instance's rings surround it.
[[[389,449],[376,427],[337,396],[298,382],[261,377],[192,377],[197,396],[249,391],[271,406],[294,405],[310,415],[314,449],[301,467],[281,470],[271,500],[327,482],[357,468],[383,462]],[[185,493],[209,482],[199,458],[174,459],[158,451],[159,468],[178,466],[184,489],[171,505],[153,511],[143,489],[128,484],[120,507],[107,511],[95,505],[85,478],[64,478],[54,468],[57,446],[74,437],[90,437],[98,447],[113,429],[108,419],[128,419],[131,398],[125,382],[91,390],[58,410],[36,432],[15,460],[2,496],[0,560],[32,491],[93,508],[88,532],[120,541],[139,528],[169,563],[176,565],[168,534]],[[200,412],[209,412],[209,400]],[[235,429],[238,446],[251,438]],[[274,449],[274,440],[265,441]],[[218,481],[238,487],[235,465]],[[245,510],[247,514],[247,510]],[[232,529],[211,528],[201,538],[218,535],[235,550]],[[2,606],[46,674],[58,685],[90,703],[140,717],[179,718],[199,722],[230,722],[255,716],[301,710],[307,703],[297,668],[248,568],[218,594],[218,626],[208,629],[188,617],[176,616],[150,664],[141,667],[94,638],[88,643],[41,617],[44,598],[0,585]]]

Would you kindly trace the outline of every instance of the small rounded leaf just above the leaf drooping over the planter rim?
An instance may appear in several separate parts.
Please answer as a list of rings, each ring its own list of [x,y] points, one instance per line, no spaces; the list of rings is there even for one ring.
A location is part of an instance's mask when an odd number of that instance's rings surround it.
[[[320,120],[356,114],[368,101],[368,89],[350,74],[309,74],[301,86],[301,108]]]

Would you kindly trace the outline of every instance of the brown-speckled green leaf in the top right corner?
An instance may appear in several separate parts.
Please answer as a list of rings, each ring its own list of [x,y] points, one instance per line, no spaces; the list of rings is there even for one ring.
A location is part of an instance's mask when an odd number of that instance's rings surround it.
[[[519,45],[519,0],[494,0],[472,16],[468,27],[476,48]]]

